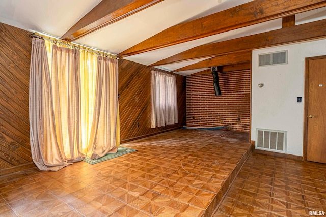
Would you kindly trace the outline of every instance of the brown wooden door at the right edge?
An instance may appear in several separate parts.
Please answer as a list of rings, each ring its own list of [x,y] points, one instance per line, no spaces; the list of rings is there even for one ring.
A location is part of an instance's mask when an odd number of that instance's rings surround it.
[[[326,58],[308,60],[307,160],[326,163]]]

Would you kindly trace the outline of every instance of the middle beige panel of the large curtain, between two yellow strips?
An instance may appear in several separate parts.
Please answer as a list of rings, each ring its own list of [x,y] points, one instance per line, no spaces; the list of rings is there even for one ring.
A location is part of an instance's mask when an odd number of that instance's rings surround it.
[[[57,141],[67,162],[82,161],[79,50],[52,47],[52,93]]]

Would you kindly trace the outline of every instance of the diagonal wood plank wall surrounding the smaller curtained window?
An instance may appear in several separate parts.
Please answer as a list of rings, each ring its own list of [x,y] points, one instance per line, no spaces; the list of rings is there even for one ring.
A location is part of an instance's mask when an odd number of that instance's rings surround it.
[[[186,80],[176,75],[178,120],[176,125],[151,128],[151,70],[161,71],[132,61],[119,60],[119,108],[121,141],[142,138],[185,125]],[[165,72],[168,73],[168,72]],[[139,127],[137,125],[139,123]]]

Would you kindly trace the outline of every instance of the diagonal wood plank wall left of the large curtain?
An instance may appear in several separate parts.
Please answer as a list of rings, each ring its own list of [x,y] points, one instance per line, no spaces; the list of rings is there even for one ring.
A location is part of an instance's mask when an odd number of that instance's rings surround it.
[[[29,32],[0,23],[0,175],[34,167],[30,148]]]

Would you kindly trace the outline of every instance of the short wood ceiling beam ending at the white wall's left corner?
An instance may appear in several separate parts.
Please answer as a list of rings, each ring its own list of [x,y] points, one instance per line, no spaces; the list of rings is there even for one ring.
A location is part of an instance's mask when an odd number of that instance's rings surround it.
[[[188,65],[182,67],[180,69],[174,70],[174,72],[181,72],[192,69],[201,69],[205,67],[213,67],[213,66],[224,66],[231,64],[238,64],[243,62],[248,62],[251,60],[251,51],[241,52],[241,53],[230,53],[221,56],[215,56],[209,59],[205,59],[198,63]]]

